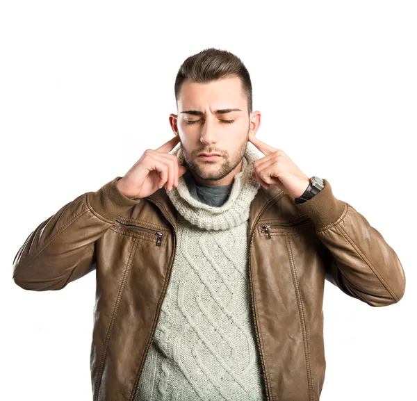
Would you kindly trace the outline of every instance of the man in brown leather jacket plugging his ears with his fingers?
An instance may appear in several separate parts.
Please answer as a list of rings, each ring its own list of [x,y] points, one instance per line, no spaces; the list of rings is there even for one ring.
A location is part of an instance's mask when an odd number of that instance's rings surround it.
[[[96,270],[95,401],[318,400],[325,279],[394,304],[398,256],[327,180],[255,138],[234,54],[190,56],[174,90],[174,138],[40,224],[13,279],[59,290]]]

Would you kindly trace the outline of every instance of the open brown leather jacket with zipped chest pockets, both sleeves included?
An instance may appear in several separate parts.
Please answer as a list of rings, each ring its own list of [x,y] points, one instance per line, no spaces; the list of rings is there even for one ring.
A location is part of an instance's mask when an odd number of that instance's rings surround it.
[[[42,222],[13,261],[13,279],[27,290],[60,290],[95,270],[94,401],[133,400],[177,247],[177,210],[165,188],[133,200],[118,179]],[[324,181],[303,204],[261,186],[250,206],[252,312],[268,400],[319,400],[325,279],[370,306],[404,295],[397,254]]]

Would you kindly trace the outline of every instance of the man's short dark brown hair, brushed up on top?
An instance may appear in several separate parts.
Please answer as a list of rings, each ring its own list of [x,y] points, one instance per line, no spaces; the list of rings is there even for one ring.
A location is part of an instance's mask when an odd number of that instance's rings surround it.
[[[230,51],[213,47],[186,58],[181,64],[174,85],[175,101],[178,101],[181,85],[186,79],[192,82],[208,83],[226,76],[240,78],[243,92],[247,97],[247,110],[252,113],[252,83],[245,65]]]

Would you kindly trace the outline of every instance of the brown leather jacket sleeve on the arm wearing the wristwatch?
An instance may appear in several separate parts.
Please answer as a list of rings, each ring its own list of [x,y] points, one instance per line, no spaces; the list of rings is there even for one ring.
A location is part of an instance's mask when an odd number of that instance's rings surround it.
[[[395,251],[353,206],[324,188],[297,208],[309,216],[327,249],[325,278],[370,306],[387,306],[404,295],[405,275]]]

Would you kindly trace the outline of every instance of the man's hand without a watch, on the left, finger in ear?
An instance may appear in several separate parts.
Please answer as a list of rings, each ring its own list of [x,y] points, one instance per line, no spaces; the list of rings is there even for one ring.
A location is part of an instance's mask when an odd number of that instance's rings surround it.
[[[122,195],[131,199],[141,199],[152,195],[163,187],[172,190],[178,186],[179,177],[186,172],[186,167],[179,165],[174,154],[168,154],[179,142],[179,136],[165,142],[158,149],[147,149],[140,159],[117,181],[117,189]]]

